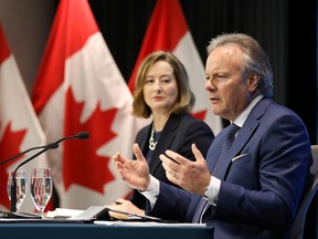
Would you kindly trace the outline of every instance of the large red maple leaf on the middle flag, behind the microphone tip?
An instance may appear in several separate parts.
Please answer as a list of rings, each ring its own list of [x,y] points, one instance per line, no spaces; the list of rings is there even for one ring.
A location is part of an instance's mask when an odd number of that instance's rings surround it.
[[[100,111],[98,103],[91,117],[82,124],[83,107],[84,103],[76,103],[70,89],[66,93],[64,135],[88,132],[89,138],[64,143],[64,186],[67,189],[72,184],[78,184],[104,194],[104,185],[115,177],[108,168],[110,157],[97,155],[97,149],[116,136],[110,128],[117,110]]]

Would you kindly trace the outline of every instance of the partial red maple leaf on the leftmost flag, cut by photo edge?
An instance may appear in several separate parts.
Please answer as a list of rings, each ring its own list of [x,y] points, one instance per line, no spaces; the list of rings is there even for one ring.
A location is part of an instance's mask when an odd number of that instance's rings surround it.
[[[0,162],[7,160],[21,153],[20,145],[24,138],[25,133],[26,129],[12,132],[11,122],[7,124],[3,136],[0,141]],[[22,157],[22,155],[20,157]],[[0,204],[7,208],[10,208],[10,201],[7,194],[7,180],[9,176],[7,168],[12,164],[14,164],[14,160],[8,162],[6,165],[0,166]]]

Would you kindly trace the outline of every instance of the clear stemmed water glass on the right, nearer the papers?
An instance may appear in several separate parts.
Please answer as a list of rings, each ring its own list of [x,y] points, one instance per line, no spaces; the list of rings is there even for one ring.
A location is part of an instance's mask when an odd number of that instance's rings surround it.
[[[32,168],[31,170],[31,197],[39,216],[43,211],[52,195],[51,168]]]

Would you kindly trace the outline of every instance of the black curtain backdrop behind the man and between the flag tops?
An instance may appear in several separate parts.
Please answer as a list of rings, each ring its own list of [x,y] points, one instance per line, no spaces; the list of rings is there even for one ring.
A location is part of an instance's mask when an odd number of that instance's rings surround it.
[[[89,0],[106,43],[129,80],[156,0]],[[316,0],[180,0],[197,48],[222,32],[244,32],[259,41],[274,71],[274,100],[305,122],[317,138]]]

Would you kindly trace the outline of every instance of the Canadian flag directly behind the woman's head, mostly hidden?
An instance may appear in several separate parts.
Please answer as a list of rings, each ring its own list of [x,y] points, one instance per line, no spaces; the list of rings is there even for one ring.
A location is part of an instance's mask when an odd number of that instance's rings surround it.
[[[222,129],[221,117],[213,114],[204,90],[205,74],[202,60],[188,29],[178,0],[158,0],[129,80],[132,91],[140,62],[157,50],[170,51],[184,64],[191,91],[195,95],[193,115],[210,125],[214,135]]]

